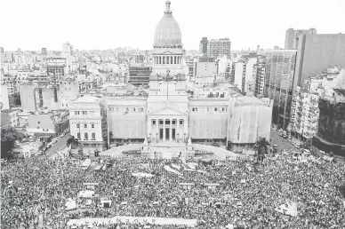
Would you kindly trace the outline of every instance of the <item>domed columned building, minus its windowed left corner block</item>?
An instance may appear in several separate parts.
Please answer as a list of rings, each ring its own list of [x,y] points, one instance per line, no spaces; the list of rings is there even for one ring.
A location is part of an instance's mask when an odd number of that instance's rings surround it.
[[[170,1],[166,1],[163,18],[156,26],[148,97],[106,99],[112,141],[144,142],[139,148],[150,156],[164,152],[160,156],[189,157],[194,154],[192,140],[193,143],[227,144],[242,152],[240,146],[253,145],[258,136],[269,139],[272,108],[259,99],[241,99],[237,95],[235,102],[229,102],[225,92],[218,98],[217,94],[223,91],[221,87],[201,88],[200,93],[196,91],[196,96],[189,98],[183,73],[185,51],[181,29],[170,6]],[[208,151],[204,145],[193,145],[193,148]]]

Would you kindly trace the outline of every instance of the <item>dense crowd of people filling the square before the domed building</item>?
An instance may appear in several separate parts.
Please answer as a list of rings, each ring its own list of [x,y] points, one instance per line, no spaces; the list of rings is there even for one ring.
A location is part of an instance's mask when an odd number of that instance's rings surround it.
[[[97,161],[98,159],[96,159]],[[71,219],[166,217],[197,219],[195,228],[345,228],[345,201],[339,186],[345,183],[344,162],[295,162],[276,154],[260,165],[250,158],[202,162],[191,170],[188,162],[117,158],[107,170],[82,170],[83,161],[69,156],[45,156],[4,162],[1,171],[1,228],[84,228],[68,225]],[[164,169],[174,168],[178,173]],[[177,168],[177,169],[176,169]],[[186,170],[188,168],[188,170]],[[152,178],[134,177],[146,173]],[[83,207],[78,193],[84,183],[98,183],[100,198]],[[186,188],[181,183],[194,183]],[[205,183],[217,184],[209,188]],[[67,211],[68,199],[77,209]],[[297,216],[277,211],[286,202],[297,204]],[[125,204],[124,204],[125,202]],[[126,223],[85,228],[123,228]],[[187,225],[149,225],[149,228],[187,228]],[[126,225],[125,228],[144,228]],[[148,228],[148,225],[147,227]]]

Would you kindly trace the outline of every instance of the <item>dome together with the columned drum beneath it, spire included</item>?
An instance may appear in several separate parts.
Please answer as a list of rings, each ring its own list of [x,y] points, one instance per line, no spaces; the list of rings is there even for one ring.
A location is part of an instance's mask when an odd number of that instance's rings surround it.
[[[163,18],[158,22],[153,43],[152,77],[183,75],[183,45],[181,29],[173,18],[170,1],[165,2]]]

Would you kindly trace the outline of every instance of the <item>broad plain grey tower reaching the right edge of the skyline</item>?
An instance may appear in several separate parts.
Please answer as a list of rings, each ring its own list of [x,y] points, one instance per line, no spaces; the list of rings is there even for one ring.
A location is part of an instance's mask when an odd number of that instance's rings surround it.
[[[298,86],[309,76],[334,65],[345,67],[345,35],[300,36],[294,76],[298,78]]]

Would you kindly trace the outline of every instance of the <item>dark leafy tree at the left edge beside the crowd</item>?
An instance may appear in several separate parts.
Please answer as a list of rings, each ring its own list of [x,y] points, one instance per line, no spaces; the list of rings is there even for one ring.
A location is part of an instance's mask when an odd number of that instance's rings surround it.
[[[21,141],[24,134],[11,126],[1,128],[1,158],[8,158],[12,154],[16,140]]]

